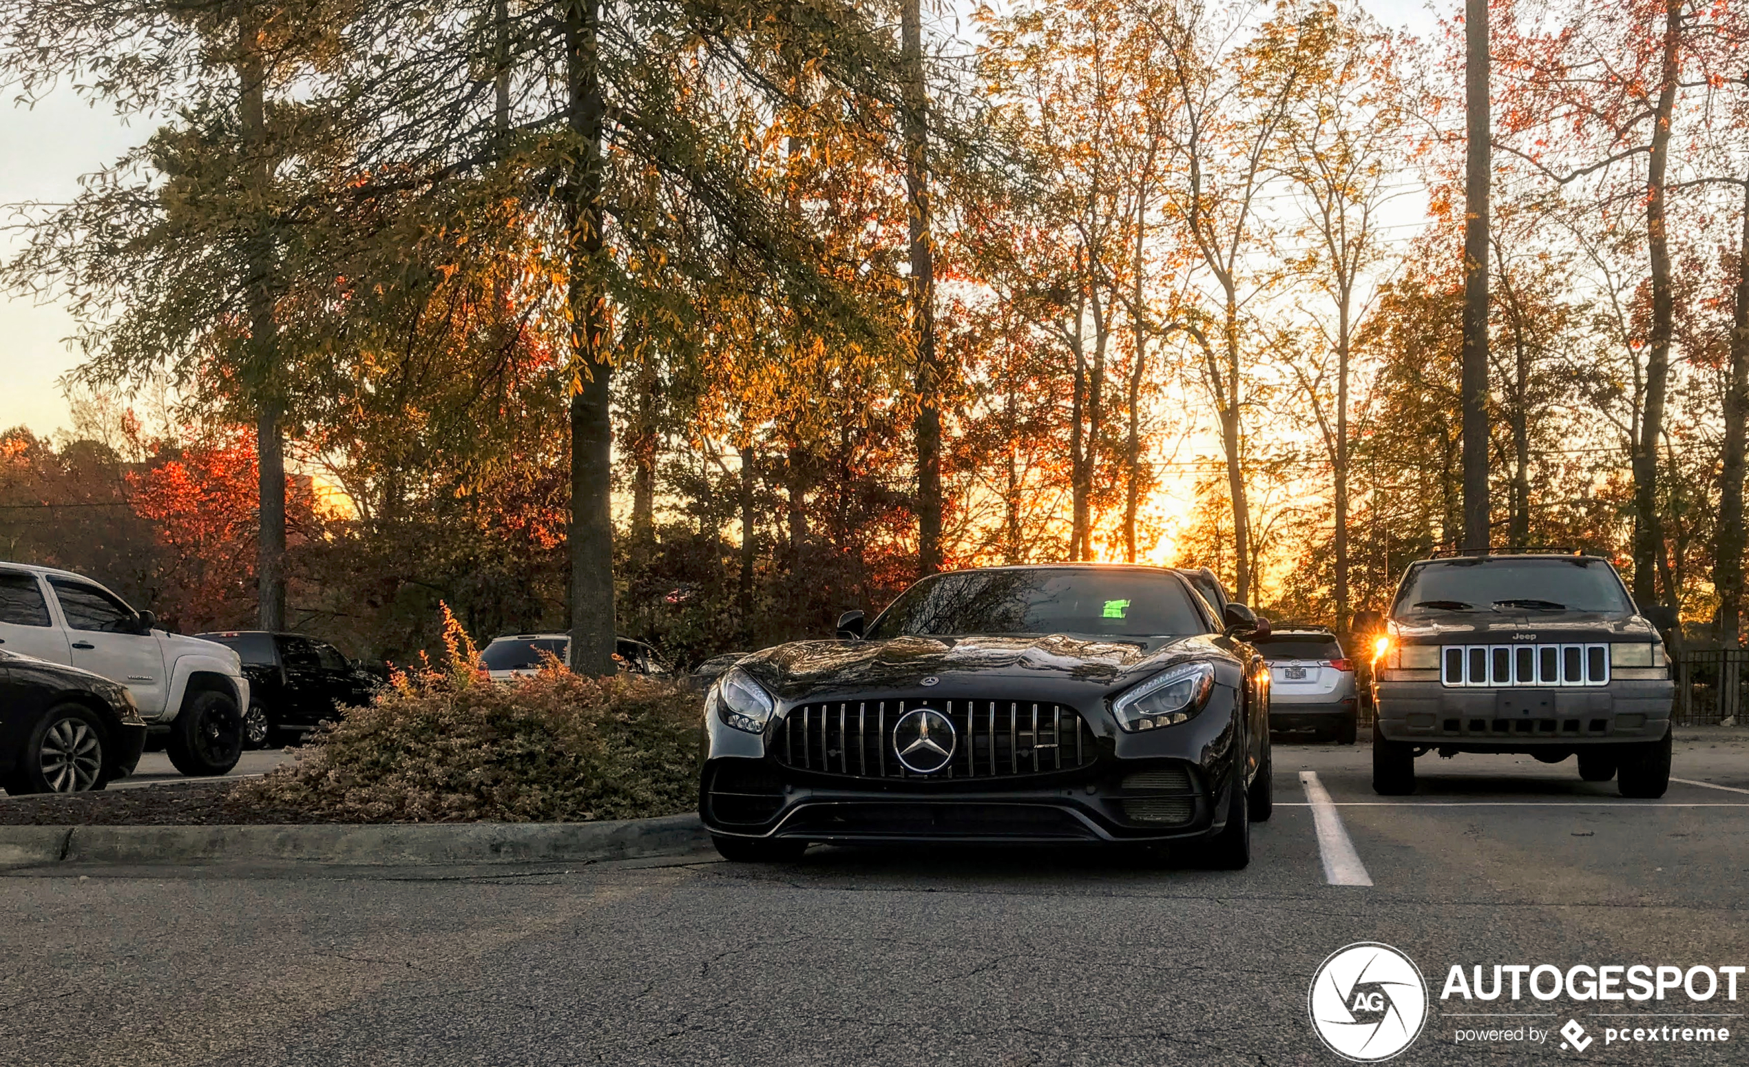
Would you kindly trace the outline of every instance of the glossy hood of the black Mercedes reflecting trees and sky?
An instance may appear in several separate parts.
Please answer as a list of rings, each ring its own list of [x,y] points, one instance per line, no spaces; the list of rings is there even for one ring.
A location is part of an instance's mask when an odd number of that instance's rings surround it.
[[[1205,637],[1147,642],[1042,637],[895,637],[892,640],[801,640],[754,652],[740,668],[778,700],[822,691],[904,691],[925,677],[943,684],[967,675],[1051,679],[1111,687],[1198,652],[1217,652]],[[1228,652],[1221,651],[1221,656]]]

